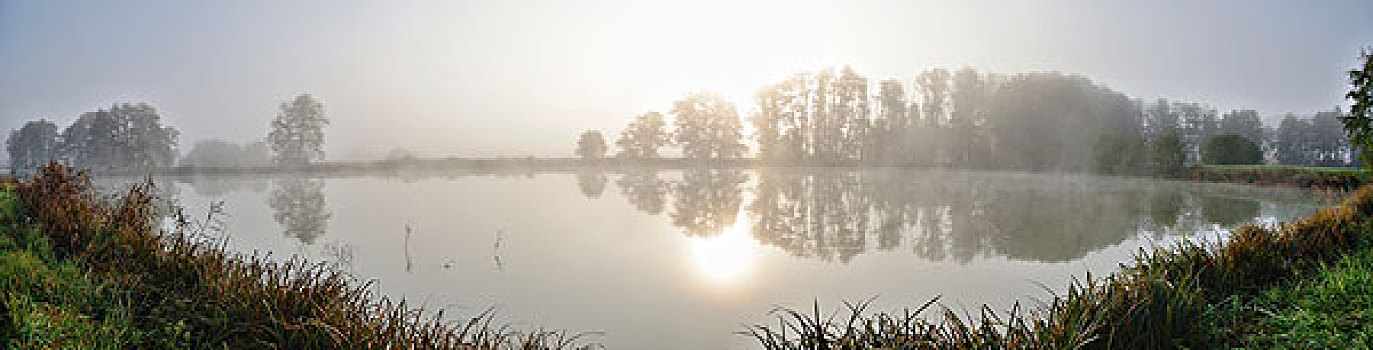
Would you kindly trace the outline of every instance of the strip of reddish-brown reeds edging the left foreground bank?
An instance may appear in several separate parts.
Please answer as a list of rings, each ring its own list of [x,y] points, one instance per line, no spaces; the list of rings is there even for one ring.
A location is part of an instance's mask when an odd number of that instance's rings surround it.
[[[23,224],[59,259],[121,291],[135,328],[150,338],[227,349],[589,347],[579,334],[498,325],[490,310],[448,321],[327,264],[233,254],[180,215],[176,229],[162,229],[151,181],[99,198],[86,173],[54,163],[7,187],[18,194]]]

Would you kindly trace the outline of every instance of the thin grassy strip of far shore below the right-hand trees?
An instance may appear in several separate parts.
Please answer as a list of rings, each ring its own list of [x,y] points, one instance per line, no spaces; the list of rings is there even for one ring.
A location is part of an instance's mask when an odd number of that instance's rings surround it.
[[[1362,167],[1313,167],[1287,165],[1203,165],[1189,169],[1185,180],[1255,185],[1355,189],[1373,180]]]

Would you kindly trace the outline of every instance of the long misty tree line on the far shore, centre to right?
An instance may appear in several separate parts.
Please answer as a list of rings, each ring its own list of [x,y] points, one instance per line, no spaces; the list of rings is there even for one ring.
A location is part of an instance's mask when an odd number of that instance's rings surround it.
[[[1156,174],[1189,163],[1346,166],[1354,158],[1339,110],[1289,114],[1270,128],[1254,110],[1144,102],[1061,73],[932,69],[873,84],[851,67],[827,69],[768,84],[754,104],[741,118],[718,93],[689,93],[673,103],[670,125],[656,111],[634,117],[615,156],[659,158],[676,147],[684,158],[741,158],[747,119],[752,155],[768,165]],[[607,143],[584,132],[577,155],[604,158]]]

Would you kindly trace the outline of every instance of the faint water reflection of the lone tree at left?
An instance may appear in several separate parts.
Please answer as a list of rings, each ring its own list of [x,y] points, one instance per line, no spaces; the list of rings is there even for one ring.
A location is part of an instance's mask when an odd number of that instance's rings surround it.
[[[324,207],[324,180],[273,180],[268,205],[281,233],[301,243],[314,244],[328,226],[331,214]]]

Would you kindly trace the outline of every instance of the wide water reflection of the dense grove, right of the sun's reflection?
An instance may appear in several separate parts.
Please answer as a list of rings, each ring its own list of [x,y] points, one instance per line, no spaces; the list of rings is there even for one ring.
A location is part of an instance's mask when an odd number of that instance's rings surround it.
[[[905,244],[934,261],[1063,262],[1151,232],[1233,226],[1260,206],[1148,180],[762,170],[748,211],[759,242],[798,257],[847,262]]]

